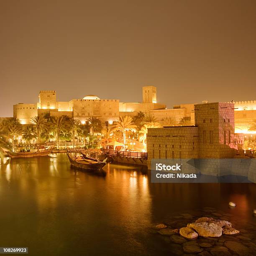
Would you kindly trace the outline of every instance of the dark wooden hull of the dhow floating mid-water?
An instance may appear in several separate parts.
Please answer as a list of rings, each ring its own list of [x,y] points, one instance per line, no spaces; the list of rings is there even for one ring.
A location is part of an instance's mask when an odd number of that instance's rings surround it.
[[[75,161],[73,157],[69,156],[69,154],[67,154],[68,158],[69,158],[69,162],[71,164],[72,167],[77,168],[77,169],[81,169],[87,172],[92,172],[98,175],[102,175],[105,176],[106,172],[104,170],[102,170],[102,168],[106,165],[106,163],[100,162],[100,163],[82,163],[80,161]]]

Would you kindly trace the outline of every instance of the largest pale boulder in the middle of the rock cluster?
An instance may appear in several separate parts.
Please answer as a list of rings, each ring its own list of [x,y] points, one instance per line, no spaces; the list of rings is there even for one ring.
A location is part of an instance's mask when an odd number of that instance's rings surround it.
[[[214,223],[190,223],[187,227],[196,230],[199,236],[219,237],[222,235],[222,228]]]

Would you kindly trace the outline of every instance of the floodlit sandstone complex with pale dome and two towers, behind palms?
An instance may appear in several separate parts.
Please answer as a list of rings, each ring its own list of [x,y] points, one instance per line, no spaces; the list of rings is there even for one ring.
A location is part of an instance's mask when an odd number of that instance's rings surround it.
[[[56,91],[40,91],[38,103],[18,103],[13,106],[13,117],[22,124],[31,122],[36,115],[49,113],[51,116],[67,115],[85,123],[89,117],[97,117],[104,123],[113,123],[120,116],[134,116],[139,111],[146,115],[151,110],[165,109],[166,105],[156,102],[156,87],[142,88],[143,102],[120,102],[117,99],[100,99],[96,95],[87,95],[82,99],[67,102],[57,101]]]

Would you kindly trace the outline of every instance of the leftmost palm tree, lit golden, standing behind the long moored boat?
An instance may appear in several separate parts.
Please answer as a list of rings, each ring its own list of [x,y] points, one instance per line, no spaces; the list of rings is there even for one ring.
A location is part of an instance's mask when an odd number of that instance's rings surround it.
[[[15,151],[15,138],[20,134],[20,121],[16,118],[6,118],[3,121],[5,136],[12,140],[13,152]]]

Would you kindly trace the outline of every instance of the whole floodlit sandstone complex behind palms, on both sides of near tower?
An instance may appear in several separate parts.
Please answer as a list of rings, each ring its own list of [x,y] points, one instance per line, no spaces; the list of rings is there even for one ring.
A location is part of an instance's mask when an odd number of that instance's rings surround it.
[[[81,99],[57,101],[56,91],[40,91],[37,103],[18,103],[13,106],[13,116],[22,124],[30,123],[32,117],[49,113],[51,116],[67,115],[85,123],[87,118],[95,116],[102,124],[113,123],[120,116],[136,116],[139,111],[154,116],[159,121],[172,118],[176,123],[184,118],[190,118],[195,125],[195,105],[174,105],[166,109],[166,105],[157,102],[155,86],[142,87],[142,102],[120,102],[118,99],[100,99],[96,95],[87,95]],[[207,101],[205,101],[207,102]],[[231,102],[230,102],[231,103]],[[234,128],[236,133],[256,133],[249,131],[256,120],[256,101],[239,101],[234,104]]]

